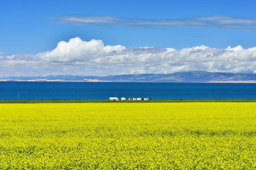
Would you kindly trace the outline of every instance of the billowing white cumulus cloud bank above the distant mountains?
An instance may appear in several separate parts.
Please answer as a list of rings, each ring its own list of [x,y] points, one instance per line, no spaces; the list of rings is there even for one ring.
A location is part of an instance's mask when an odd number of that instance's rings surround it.
[[[256,73],[256,47],[216,49],[105,46],[102,40],[79,37],[60,41],[51,51],[0,57],[0,76],[8,75],[116,75],[180,71]]]

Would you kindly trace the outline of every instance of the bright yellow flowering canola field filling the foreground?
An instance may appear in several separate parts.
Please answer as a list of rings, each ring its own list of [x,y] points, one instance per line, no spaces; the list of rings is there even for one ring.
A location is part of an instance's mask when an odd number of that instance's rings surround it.
[[[0,169],[256,169],[256,103],[1,103]]]

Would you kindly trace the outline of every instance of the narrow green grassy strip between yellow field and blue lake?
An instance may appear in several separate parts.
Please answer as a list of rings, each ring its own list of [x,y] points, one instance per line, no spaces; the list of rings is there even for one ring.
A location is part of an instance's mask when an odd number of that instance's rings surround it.
[[[167,99],[167,100],[0,100],[0,103],[188,103],[188,102],[256,102],[256,99]]]

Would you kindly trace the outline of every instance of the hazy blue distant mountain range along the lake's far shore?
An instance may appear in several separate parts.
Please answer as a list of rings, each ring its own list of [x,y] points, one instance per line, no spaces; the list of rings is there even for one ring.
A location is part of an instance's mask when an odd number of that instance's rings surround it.
[[[177,72],[171,74],[124,74],[109,76],[49,75],[34,77],[2,77],[2,81],[131,81],[131,82],[212,82],[256,81],[256,74],[220,73],[205,71]]]

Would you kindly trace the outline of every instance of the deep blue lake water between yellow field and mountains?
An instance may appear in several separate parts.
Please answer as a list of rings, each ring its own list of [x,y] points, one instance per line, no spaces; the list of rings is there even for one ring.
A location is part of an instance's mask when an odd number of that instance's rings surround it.
[[[256,98],[254,83],[169,82],[0,82],[0,100],[107,100],[109,97],[152,99]]]

